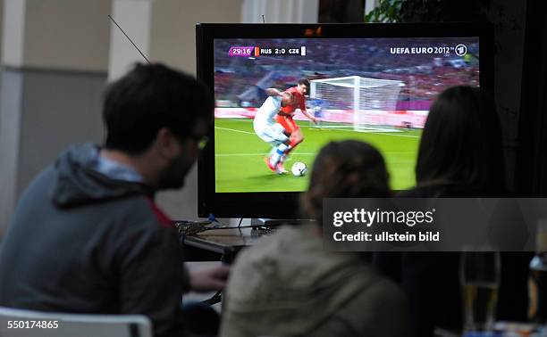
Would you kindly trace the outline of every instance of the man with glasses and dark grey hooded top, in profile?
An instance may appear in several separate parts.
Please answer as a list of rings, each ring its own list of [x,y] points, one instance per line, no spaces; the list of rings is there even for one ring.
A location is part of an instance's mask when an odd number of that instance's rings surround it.
[[[154,195],[184,185],[213,109],[206,86],[159,64],[108,86],[105,144],[72,146],[19,201],[0,247],[0,306],[143,314],[155,336],[182,335],[182,292],[222,290],[228,270],[186,272]]]

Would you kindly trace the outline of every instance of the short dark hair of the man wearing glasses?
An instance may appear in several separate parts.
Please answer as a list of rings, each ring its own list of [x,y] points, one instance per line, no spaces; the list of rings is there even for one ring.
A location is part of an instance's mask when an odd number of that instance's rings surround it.
[[[196,78],[161,64],[137,64],[106,89],[105,147],[144,152],[162,127],[184,140],[198,120],[212,120],[214,107],[210,90]]]

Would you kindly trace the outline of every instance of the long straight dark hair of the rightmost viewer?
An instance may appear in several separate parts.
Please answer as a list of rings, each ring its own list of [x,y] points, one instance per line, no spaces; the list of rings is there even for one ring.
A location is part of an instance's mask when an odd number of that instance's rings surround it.
[[[452,86],[433,103],[419,146],[417,185],[504,189],[501,126],[483,89]]]

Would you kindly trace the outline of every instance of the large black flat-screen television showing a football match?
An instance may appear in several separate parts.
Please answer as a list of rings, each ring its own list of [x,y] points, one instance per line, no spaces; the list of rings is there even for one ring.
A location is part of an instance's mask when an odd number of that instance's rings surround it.
[[[311,169],[330,141],[373,144],[392,189],[407,189],[415,185],[420,135],[436,95],[455,85],[492,90],[490,24],[202,23],[196,33],[198,78],[216,102],[215,127],[198,160],[201,217],[297,217],[309,174],[290,168],[301,162]],[[294,92],[302,79],[305,98],[293,102],[292,120],[303,141],[283,158],[289,172],[277,174],[265,160],[275,152],[272,137],[258,135],[254,119],[273,102],[272,88]],[[268,118],[271,129],[289,135],[275,125],[277,115]]]

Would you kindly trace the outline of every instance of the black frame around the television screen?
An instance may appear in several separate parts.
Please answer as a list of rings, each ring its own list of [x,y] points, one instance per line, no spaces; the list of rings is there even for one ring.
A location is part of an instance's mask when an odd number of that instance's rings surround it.
[[[488,22],[335,23],[196,25],[197,75],[215,87],[215,38],[368,38],[368,37],[479,37],[480,86],[493,95],[493,25]],[[198,216],[218,218],[299,218],[295,192],[216,193],[215,130],[198,160]],[[277,207],[275,207],[277,206]]]

